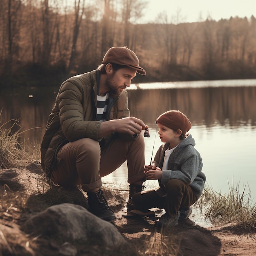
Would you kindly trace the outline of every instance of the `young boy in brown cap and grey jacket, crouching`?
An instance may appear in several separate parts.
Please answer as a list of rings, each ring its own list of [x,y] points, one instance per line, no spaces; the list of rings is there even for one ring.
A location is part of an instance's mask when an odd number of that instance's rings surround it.
[[[166,213],[156,222],[158,229],[170,228],[179,219],[188,218],[190,206],[202,194],[206,177],[202,172],[202,157],[194,148],[195,140],[187,132],[189,119],[179,110],[160,115],[156,124],[162,142],[154,161],[144,170],[147,180],[159,180],[160,188],[135,193],[131,198],[130,211],[150,213],[150,208],[164,208]]]

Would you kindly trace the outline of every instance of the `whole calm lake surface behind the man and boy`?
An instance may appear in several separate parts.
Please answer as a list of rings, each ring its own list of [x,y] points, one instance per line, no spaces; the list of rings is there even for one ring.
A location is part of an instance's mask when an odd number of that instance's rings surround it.
[[[1,124],[18,119],[22,131],[34,128],[23,135],[40,141],[57,91],[58,88],[0,91]],[[256,80],[144,83],[132,85],[128,95],[131,115],[150,126],[151,137],[145,138],[146,164],[162,144],[155,119],[167,110],[180,110],[192,123],[190,132],[202,155],[208,186],[227,193],[229,186],[239,184],[240,191],[244,187],[246,192],[250,189],[255,202]],[[126,164],[104,177],[103,182],[126,186]],[[157,183],[147,181],[146,185]]]

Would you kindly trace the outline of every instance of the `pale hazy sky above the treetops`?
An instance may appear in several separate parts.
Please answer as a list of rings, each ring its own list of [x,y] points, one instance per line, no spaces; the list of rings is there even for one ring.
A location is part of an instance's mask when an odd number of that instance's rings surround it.
[[[256,0],[145,0],[144,18],[140,23],[152,22],[157,15],[166,12],[168,17],[177,17],[179,22],[197,22],[211,16],[213,20],[256,17]]]

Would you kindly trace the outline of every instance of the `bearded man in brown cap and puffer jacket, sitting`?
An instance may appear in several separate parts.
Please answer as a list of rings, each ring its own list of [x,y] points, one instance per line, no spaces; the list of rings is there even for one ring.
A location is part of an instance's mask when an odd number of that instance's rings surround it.
[[[145,124],[130,117],[127,91],[136,73],[145,75],[136,54],[112,47],[97,70],[62,83],[41,144],[43,170],[56,184],[81,184],[89,211],[114,221],[101,191],[101,177],[127,160],[131,196],[142,190]],[[136,135],[136,136],[134,136]]]

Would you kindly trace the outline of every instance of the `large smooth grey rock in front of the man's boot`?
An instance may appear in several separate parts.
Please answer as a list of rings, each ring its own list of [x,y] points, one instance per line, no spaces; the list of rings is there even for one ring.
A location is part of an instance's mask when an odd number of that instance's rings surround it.
[[[108,249],[127,245],[114,225],[75,204],[65,203],[49,207],[29,218],[23,230],[59,244],[86,243]]]

